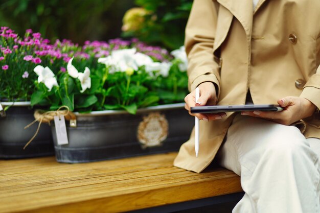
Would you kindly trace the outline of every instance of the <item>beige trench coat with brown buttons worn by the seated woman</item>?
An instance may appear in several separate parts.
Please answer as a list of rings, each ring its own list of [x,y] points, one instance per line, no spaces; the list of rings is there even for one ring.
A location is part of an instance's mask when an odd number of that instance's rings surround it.
[[[320,1],[194,0],[186,28],[189,90],[214,82],[218,105],[244,104],[250,89],[255,104],[303,97],[320,108]],[[174,165],[201,172],[215,157],[235,114],[200,121],[195,157],[194,131]],[[300,122],[308,137],[320,138],[320,120]]]

